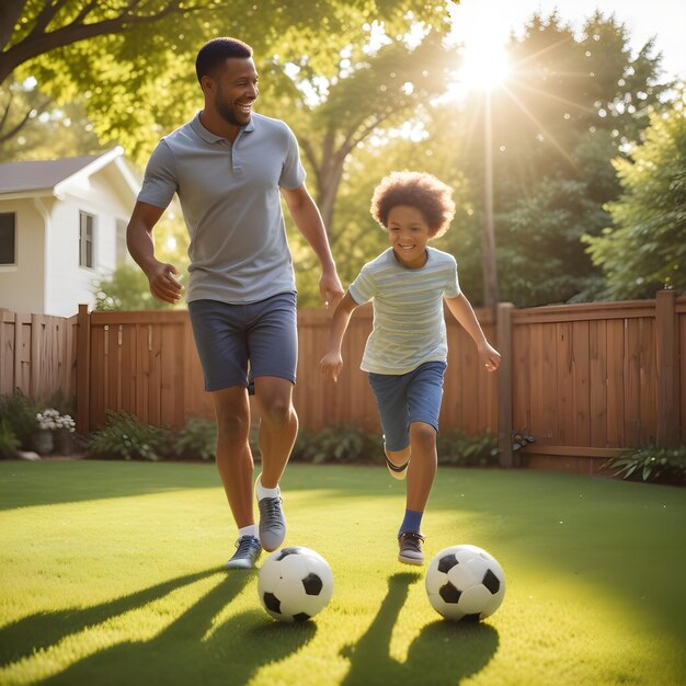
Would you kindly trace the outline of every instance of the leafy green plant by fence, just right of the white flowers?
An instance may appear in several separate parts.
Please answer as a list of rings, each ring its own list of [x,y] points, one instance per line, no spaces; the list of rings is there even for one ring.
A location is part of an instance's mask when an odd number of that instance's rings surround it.
[[[107,411],[107,425],[88,438],[88,457],[94,459],[160,460],[170,454],[167,428],[144,424],[127,412]]]

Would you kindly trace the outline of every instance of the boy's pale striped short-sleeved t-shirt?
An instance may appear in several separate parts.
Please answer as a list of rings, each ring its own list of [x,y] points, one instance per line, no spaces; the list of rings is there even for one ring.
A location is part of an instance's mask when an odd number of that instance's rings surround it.
[[[392,248],[362,267],[350,285],[358,305],[373,301],[374,327],[361,368],[375,374],[407,374],[448,354],[443,298],[459,295],[453,255],[426,248],[426,263],[409,270]]]

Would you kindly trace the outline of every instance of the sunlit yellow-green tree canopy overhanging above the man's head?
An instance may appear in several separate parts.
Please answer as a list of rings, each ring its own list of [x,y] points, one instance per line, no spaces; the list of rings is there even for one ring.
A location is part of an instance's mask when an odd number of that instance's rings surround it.
[[[193,65],[208,37],[229,33],[250,43],[265,81],[304,60],[309,73],[328,78],[341,50],[368,43],[375,22],[400,35],[413,12],[427,26],[446,25],[438,0],[0,0],[0,82],[33,76],[60,104],[83,96],[103,144],[144,162],[161,132],[197,110]],[[286,89],[287,100],[293,92]]]

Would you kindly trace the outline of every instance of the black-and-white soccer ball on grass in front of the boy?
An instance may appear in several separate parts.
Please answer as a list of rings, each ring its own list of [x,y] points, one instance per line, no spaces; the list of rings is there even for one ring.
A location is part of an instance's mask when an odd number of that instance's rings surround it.
[[[479,621],[492,615],[505,595],[498,560],[477,546],[442,550],[426,570],[426,594],[446,619]]]

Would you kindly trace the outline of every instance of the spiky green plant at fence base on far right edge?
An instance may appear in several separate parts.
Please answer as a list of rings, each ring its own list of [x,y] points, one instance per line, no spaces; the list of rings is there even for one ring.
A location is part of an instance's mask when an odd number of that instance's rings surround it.
[[[631,481],[651,481],[686,485],[686,445],[677,448],[648,446],[613,457],[603,466],[616,477]]]

